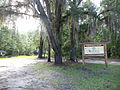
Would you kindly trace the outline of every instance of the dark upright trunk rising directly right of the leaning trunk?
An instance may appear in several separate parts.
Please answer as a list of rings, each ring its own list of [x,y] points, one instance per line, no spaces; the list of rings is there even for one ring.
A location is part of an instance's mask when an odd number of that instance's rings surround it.
[[[55,64],[62,64],[62,51],[61,51],[61,16],[62,16],[62,2],[63,0],[56,0],[55,3],[55,31],[56,31],[56,38],[58,42],[58,48],[60,53],[55,53]]]

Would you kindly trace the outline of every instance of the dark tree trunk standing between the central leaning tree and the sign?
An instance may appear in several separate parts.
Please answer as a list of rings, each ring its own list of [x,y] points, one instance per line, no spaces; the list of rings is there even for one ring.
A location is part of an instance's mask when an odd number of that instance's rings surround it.
[[[75,23],[74,21],[72,22],[72,28],[71,28],[71,35],[70,35],[70,40],[71,40],[71,51],[70,51],[70,60],[75,62],[76,61],[76,39],[75,39]]]

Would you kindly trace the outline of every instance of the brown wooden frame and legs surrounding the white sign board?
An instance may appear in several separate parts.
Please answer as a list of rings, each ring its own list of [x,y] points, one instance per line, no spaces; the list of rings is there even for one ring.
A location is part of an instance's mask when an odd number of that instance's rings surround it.
[[[105,66],[108,67],[108,56],[107,56],[107,44],[108,42],[84,42],[80,43],[82,44],[82,60],[83,64],[85,64],[85,57],[95,57],[95,56],[100,56],[100,57],[105,57]],[[104,48],[104,53],[99,53],[99,54],[85,54],[85,47],[103,47]]]

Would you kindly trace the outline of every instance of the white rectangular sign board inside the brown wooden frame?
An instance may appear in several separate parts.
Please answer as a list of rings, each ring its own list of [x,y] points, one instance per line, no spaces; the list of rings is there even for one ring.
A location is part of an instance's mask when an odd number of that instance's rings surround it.
[[[84,54],[104,54],[104,46],[84,47]]]

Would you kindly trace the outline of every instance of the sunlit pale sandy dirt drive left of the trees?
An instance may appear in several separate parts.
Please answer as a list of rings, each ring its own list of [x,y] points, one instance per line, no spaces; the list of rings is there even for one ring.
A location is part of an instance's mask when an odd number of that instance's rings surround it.
[[[36,73],[43,74],[42,76],[47,73],[29,67],[29,64],[38,62],[42,63],[44,60],[23,58],[0,60],[0,90],[49,90],[49,88],[53,90],[45,80],[35,76]]]

